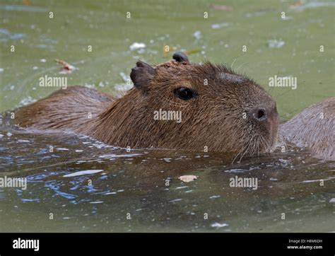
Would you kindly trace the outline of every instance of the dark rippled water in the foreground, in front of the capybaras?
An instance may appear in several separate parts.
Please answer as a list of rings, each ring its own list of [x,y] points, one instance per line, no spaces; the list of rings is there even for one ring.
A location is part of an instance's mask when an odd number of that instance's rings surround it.
[[[28,179],[27,190],[1,189],[1,231],[335,229],[330,202],[335,197],[334,163],[310,158],[306,151],[232,164],[233,156],[221,153],[129,153],[88,136],[16,129],[8,136],[5,126],[0,134],[1,174]],[[181,175],[199,178],[182,182]],[[230,187],[235,177],[257,178],[257,190]],[[18,226],[18,219],[38,219],[42,228],[28,222]]]

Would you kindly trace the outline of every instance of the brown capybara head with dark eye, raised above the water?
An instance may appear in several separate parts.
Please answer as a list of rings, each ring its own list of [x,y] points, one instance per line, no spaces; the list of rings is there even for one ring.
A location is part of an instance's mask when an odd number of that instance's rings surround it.
[[[141,98],[137,115],[153,146],[241,156],[271,150],[278,113],[261,86],[224,65],[189,64],[182,52],[173,59],[155,67],[137,62],[131,70]]]

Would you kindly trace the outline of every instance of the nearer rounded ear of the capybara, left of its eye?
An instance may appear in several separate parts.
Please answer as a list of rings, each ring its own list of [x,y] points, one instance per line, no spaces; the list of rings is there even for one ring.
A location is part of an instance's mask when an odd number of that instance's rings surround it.
[[[130,78],[134,86],[139,89],[145,89],[153,78],[155,69],[145,62],[136,62],[136,66],[131,69]]]

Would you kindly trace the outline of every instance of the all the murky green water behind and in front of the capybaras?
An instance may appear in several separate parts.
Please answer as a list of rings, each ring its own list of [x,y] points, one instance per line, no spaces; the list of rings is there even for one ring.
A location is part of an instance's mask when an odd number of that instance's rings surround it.
[[[117,94],[129,88],[136,60],[159,64],[184,50],[191,62],[223,62],[259,82],[287,120],[335,95],[334,1],[292,8],[295,3],[224,1],[226,11],[213,7],[218,1],[32,0],[28,6],[1,0],[0,111],[57,90],[38,86],[45,75]],[[146,48],[130,50],[134,42]],[[171,52],[163,52],[165,45]],[[59,74],[54,59],[76,70]],[[298,88],[270,88],[274,75],[296,77]],[[308,153],[277,152],[231,165],[217,153],[127,153],[90,139],[27,134],[4,124],[0,134],[1,173],[28,178],[27,190],[0,190],[0,231],[335,231],[329,202],[335,197],[334,162]],[[50,145],[59,150],[48,153]],[[110,154],[115,156],[101,157]],[[81,170],[103,171],[64,178]],[[259,189],[229,187],[236,172],[258,178]],[[186,174],[199,179],[177,179]]]

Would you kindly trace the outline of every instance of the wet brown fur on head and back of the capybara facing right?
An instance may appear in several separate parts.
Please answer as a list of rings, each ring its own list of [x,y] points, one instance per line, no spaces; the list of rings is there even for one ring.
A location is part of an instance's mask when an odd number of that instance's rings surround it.
[[[122,98],[73,86],[18,109],[15,123],[40,131],[86,134],[114,146],[195,150],[208,146],[209,151],[237,152],[239,158],[274,146],[276,103],[254,81],[209,62],[171,61],[153,70],[146,65],[137,64],[131,74],[135,88]],[[177,98],[174,90],[181,86],[198,95]],[[267,110],[266,122],[254,122],[249,116],[255,107]],[[182,122],[153,120],[159,109],[180,110]]]

